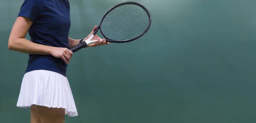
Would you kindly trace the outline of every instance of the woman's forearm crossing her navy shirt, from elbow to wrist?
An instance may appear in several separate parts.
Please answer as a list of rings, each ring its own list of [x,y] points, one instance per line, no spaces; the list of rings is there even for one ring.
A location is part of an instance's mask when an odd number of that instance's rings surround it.
[[[25,38],[9,39],[8,49],[26,54],[51,54],[52,46],[33,43]]]

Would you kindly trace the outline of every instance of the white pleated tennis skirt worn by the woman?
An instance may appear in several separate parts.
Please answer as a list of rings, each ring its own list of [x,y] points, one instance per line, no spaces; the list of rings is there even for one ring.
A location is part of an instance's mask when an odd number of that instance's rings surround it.
[[[69,117],[78,116],[67,77],[56,72],[34,70],[24,74],[17,107],[32,105],[63,108]]]

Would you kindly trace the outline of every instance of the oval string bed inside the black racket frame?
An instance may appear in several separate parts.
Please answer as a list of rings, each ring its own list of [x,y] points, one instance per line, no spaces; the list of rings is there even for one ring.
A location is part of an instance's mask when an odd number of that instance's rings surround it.
[[[102,32],[112,40],[129,40],[149,26],[148,13],[137,5],[122,5],[110,11],[102,21]]]

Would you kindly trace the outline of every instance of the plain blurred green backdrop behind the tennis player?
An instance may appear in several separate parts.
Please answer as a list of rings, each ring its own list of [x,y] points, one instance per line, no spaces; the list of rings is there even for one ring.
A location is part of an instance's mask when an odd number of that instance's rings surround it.
[[[70,37],[86,37],[124,1],[70,0]],[[256,123],[256,1],[136,2],[151,12],[148,33],[73,55],[67,77],[79,116],[66,123]],[[22,3],[0,5],[0,123],[30,119],[16,107],[28,54],[7,49]]]

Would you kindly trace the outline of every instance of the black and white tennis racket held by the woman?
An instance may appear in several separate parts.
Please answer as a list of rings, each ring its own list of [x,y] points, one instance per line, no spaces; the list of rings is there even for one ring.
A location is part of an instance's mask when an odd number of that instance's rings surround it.
[[[143,5],[136,2],[119,3],[109,9],[99,22],[95,32],[87,39],[70,48],[76,52],[86,48],[100,30],[106,42],[127,43],[136,40],[145,34],[151,26],[151,15]],[[101,40],[102,41],[102,40]]]

